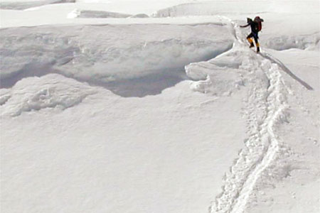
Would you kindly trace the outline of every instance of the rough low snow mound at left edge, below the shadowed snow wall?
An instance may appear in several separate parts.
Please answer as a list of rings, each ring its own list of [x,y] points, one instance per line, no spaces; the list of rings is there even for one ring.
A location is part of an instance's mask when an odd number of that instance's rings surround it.
[[[80,104],[90,94],[95,94],[92,87],[60,75],[26,78],[0,94],[1,116],[46,108],[63,110]]]

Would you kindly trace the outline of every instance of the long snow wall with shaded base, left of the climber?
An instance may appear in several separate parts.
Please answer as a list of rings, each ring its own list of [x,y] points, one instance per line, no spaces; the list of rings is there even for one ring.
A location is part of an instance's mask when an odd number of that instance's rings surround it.
[[[6,28],[1,87],[59,73],[123,96],[159,94],[186,78],[185,65],[228,50],[227,32],[214,24]]]

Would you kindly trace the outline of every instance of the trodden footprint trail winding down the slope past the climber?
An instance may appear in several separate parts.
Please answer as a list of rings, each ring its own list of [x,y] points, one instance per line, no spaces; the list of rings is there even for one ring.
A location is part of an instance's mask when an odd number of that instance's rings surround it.
[[[245,38],[239,28],[232,24],[231,33],[235,36],[235,43],[244,47]],[[245,46],[245,48],[247,48]],[[250,50],[248,50],[250,51]],[[215,199],[211,213],[242,213],[245,212],[250,195],[254,192],[257,180],[262,173],[272,164],[279,151],[279,141],[274,133],[274,126],[279,121],[286,120],[287,87],[282,75],[282,67],[263,55],[257,55],[255,62],[250,62],[248,72],[255,75],[255,70],[261,70],[267,77],[267,83],[255,80],[250,88],[247,106],[244,113],[250,137],[245,141],[243,148],[230,168],[230,173],[225,175],[223,192]]]

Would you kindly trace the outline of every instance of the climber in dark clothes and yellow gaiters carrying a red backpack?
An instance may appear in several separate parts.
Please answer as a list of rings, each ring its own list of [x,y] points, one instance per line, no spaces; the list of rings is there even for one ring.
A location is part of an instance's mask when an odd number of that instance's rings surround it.
[[[247,25],[240,26],[241,28],[245,28],[247,26],[251,27],[251,33],[249,35],[247,35],[247,40],[250,43],[250,48],[253,48],[255,45],[257,46],[257,53],[260,52],[260,44],[258,42],[258,38],[259,38],[258,32],[261,31],[262,22],[263,22],[263,19],[260,18],[259,16],[256,16],[253,21],[251,18],[247,18]],[[255,38],[255,45],[253,45],[252,37]]]

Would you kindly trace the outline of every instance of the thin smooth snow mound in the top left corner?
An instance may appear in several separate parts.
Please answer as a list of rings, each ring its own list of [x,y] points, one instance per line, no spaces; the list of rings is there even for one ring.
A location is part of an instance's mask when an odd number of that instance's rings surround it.
[[[25,10],[33,7],[48,5],[48,4],[65,4],[75,3],[75,0],[38,0],[38,1],[11,1],[11,2],[0,2],[0,9],[7,10]]]

